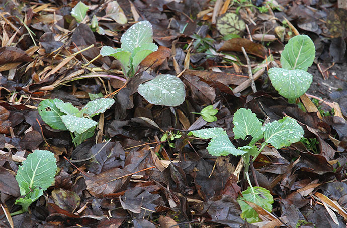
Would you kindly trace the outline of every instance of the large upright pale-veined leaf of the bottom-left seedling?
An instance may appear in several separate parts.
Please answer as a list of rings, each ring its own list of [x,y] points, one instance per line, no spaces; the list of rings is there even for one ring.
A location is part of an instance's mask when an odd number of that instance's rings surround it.
[[[16,180],[21,195],[38,188],[46,190],[54,182],[57,170],[56,159],[52,152],[46,150],[35,150],[29,154],[27,159],[18,167]]]

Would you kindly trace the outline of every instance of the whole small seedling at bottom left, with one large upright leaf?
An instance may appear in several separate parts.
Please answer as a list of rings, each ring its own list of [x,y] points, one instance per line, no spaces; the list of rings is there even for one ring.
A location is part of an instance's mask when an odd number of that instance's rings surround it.
[[[16,200],[16,204],[22,209],[11,213],[11,216],[28,211],[28,207],[36,201],[43,191],[54,183],[57,171],[54,154],[46,150],[35,150],[29,154],[22,165],[18,167],[16,180],[22,198]]]

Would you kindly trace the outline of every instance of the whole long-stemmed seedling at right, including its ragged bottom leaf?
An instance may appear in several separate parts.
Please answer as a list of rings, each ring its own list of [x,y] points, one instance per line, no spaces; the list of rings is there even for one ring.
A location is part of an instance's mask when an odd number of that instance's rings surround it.
[[[211,139],[207,147],[211,155],[226,156],[232,154],[234,156],[242,156],[245,163],[245,176],[250,187],[243,191],[243,197],[238,199],[242,209],[241,217],[247,219],[248,222],[260,221],[256,211],[245,203],[244,200],[263,206],[264,209],[271,212],[273,199],[268,190],[261,187],[252,187],[248,177],[250,162],[254,161],[268,144],[279,149],[300,141],[304,130],[290,117],[284,117],[281,120],[262,126],[255,113],[244,108],[236,111],[233,124],[235,139],[246,140],[249,136],[252,137],[248,145],[236,148],[222,128],[201,129],[191,131],[189,134],[202,139]],[[261,143],[261,147],[258,149],[255,143],[262,138],[264,138],[264,142]],[[253,157],[252,160],[250,160],[251,157]]]

